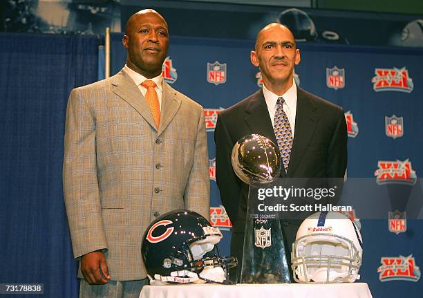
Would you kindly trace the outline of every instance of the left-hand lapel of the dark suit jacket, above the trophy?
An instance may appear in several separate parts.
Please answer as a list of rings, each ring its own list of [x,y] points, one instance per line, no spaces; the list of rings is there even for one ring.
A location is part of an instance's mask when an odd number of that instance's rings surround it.
[[[274,136],[272,121],[270,120],[269,110],[267,109],[262,89],[252,95],[250,102],[245,107],[245,113],[244,121],[252,133],[265,136],[274,142],[277,148],[278,142],[276,141],[276,136]],[[285,171],[281,171],[281,176],[285,177]]]

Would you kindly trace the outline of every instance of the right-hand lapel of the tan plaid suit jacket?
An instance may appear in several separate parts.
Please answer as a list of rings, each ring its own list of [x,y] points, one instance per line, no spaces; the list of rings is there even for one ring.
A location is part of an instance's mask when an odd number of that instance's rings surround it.
[[[162,95],[162,112],[160,113],[160,125],[158,129],[158,136],[166,129],[169,123],[173,120],[180,107],[181,100],[177,97],[175,90],[163,81],[163,95]]]

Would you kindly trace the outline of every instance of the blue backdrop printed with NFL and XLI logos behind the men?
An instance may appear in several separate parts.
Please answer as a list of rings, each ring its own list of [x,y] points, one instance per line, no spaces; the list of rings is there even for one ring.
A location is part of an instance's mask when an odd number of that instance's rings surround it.
[[[112,35],[113,74],[120,71],[126,59],[121,37]],[[339,104],[346,112],[347,173],[348,179],[353,181],[351,185],[370,185],[372,191],[386,195],[378,198],[382,199],[379,202],[384,209],[400,211],[405,210],[413,187],[413,194],[421,201],[416,206],[421,208],[422,184],[417,177],[423,171],[423,72],[419,63],[423,50],[325,44],[298,46],[301,62],[295,68],[297,84]],[[220,246],[226,255],[231,233],[227,216],[220,208],[214,180],[214,125],[220,109],[232,106],[259,89],[259,69],[250,63],[252,48],[254,41],[172,37],[169,59],[163,68],[167,82],[205,108],[211,217],[212,223],[223,230]],[[400,196],[395,192],[400,192]],[[360,202],[357,206],[360,208],[370,207],[363,198],[349,196],[347,200],[346,203],[352,205],[354,201]],[[396,231],[399,234],[388,230],[388,212],[384,217],[371,216],[370,212],[370,216],[367,214],[366,219],[361,220],[359,212],[354,214],[355,220],[360,221],[364,239],[360,281],[369,284],[374,297],[394,297],[397,292],[421,295],[423,283],[418,266],[423,264],[423,221],[413,219],[422,212],[421,209],[415,211],[413,217],[408,216],[406,231]],[[382,261],[382,258],[386,259]],[[398,269],[393,268],[392,263],[397,264]]]

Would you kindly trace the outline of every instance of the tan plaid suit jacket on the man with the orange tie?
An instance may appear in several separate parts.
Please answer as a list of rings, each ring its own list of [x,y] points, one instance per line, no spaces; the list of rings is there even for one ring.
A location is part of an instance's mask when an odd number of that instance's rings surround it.
[[[203,107],[165,82],[158,130],[123,70],[73,89],[64,147],[73,253],[78,258],[102,249],[113,280],[147,277],[142,235],[158,214],[190,209],[209,218]]]

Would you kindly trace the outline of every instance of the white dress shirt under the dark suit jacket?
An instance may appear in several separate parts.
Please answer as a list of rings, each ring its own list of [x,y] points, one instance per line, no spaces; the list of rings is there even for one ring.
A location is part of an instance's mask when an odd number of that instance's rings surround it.
[[[267,104],[267,111],[269,111],[270,120],[272,120],[272,126],[274,126],[274,113],[276,113],[276,103],[279,97],[283,97],[283,111],[288,116],[290,127],[292,131],[292,140],[294,139],[295,131],[295,115],[297,113],[297,85],[292,80],[292,86],[283,95],[279,96],[269,91],[263,84],[263,95]]]

